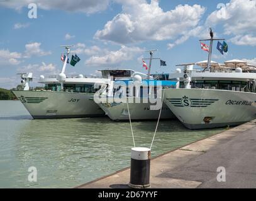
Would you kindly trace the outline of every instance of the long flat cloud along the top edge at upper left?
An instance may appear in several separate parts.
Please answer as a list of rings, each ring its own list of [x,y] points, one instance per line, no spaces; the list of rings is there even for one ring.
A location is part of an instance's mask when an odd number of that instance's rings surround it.
[[[50,10],[58,9],[69,12],[96,13],[108,8],[109,0],[19,0],[19,1],[1,1],[0,6],[7,8],[21,9],[28,8],[28,4],[35,3],[38,8]]]

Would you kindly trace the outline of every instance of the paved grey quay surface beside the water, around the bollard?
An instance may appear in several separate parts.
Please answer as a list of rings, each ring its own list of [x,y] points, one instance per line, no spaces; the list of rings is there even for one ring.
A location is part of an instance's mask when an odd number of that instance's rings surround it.
[[[223,166],[226,182],[218,182]],[[128,188],[130,168],[77,188]],[[256,188],[256,121],[157,156],[151,188]]]

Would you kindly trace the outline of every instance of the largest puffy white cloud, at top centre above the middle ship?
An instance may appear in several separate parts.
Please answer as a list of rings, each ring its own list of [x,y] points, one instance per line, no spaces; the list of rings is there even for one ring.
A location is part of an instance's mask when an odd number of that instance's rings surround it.
[[[163,11],[157,0],[118,1],[123,11],[98,30],[94,38],[116,43],[135,43],[147,40],[176,40],[196,28],[205,8],[179,5]]]

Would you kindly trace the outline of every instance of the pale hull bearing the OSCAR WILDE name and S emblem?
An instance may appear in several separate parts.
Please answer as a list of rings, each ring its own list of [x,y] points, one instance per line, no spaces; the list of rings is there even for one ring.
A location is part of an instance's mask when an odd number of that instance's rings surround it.
[[[250,92],[165,89],[164,102],[189,129],[235,126],[256,118],[256,94]]]

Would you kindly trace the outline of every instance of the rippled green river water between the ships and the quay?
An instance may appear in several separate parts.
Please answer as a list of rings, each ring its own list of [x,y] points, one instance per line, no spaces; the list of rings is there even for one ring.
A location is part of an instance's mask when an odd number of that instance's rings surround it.
[[[150,146],[157,121],[132,122],[136,146]],[[160,121],[152,156],[220,133]],[[70,188],[130,166],[129,122],[108,117],[31,119],[15,100],[0,101],[0,188]],[[35,166],[37,182],[29,182]],[[129,182],[129,181],[127,181]]]

